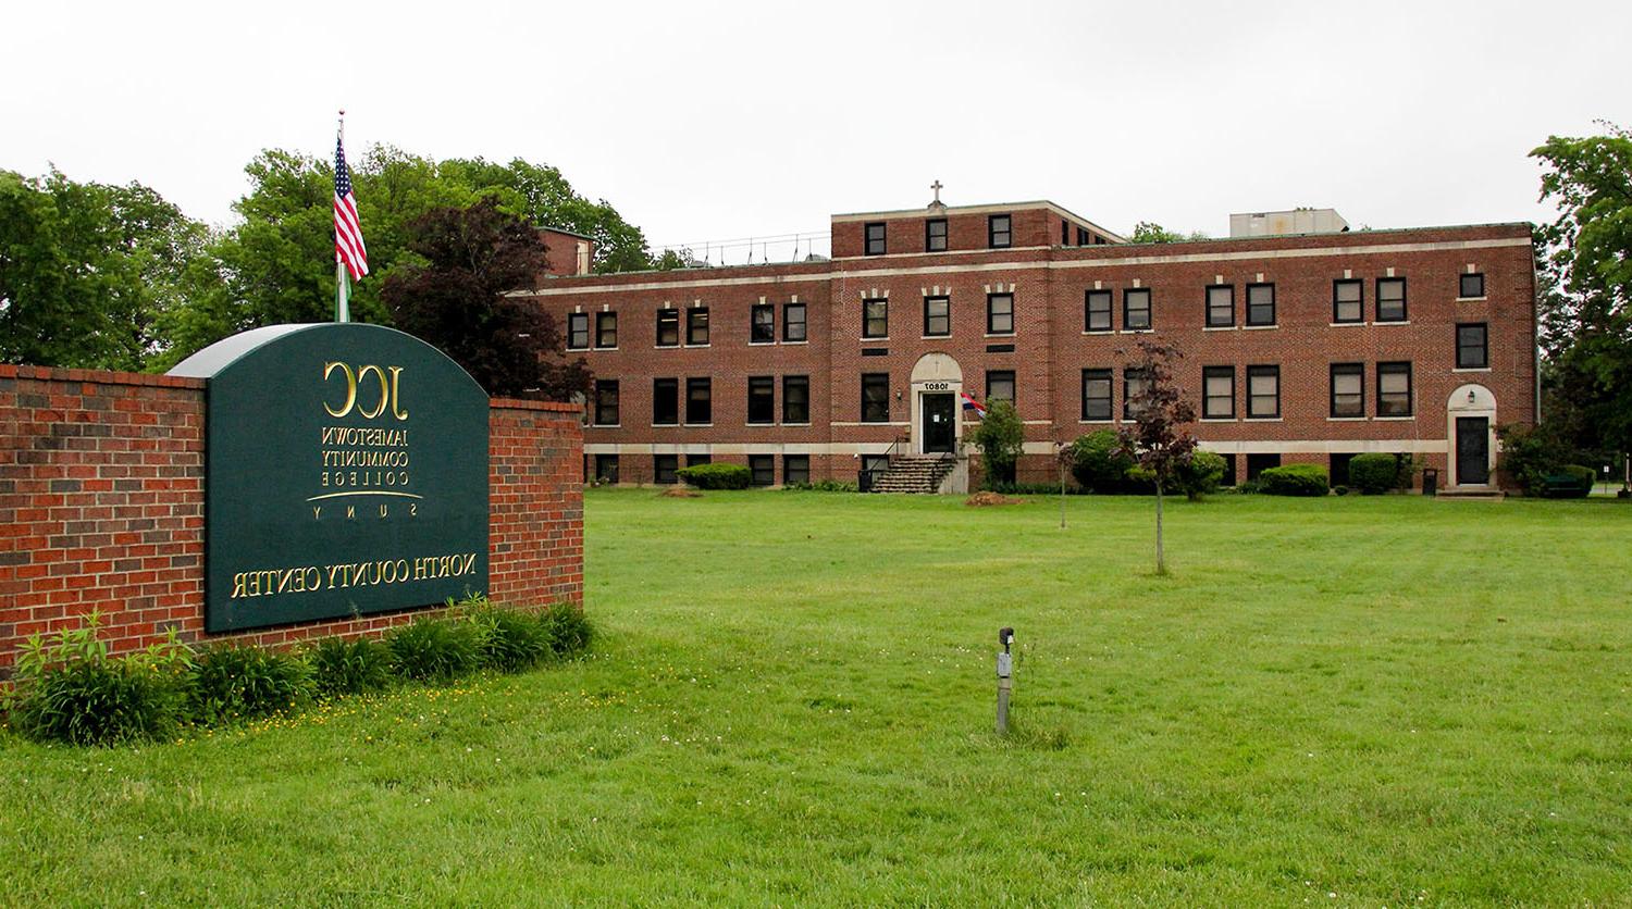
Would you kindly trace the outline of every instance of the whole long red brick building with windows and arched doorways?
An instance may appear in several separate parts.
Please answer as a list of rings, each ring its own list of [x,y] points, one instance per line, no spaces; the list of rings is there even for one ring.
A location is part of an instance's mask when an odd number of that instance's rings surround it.
[[[762,485],[855,480],[906,454],[938,455],[961,490],[960,390],[1010,398],[1018,478],[1053,478],[1056,444],[1124,419],[1141,336],[1185,351],[1226,483],[1293,462],[1342,481],[1376,450],[1482,490],[1497,424],[1537,406],[1526,224],[1136,245],[1053,202],[937,202],[834,215],[831,259],[527,295],[596,375],[586,475],[622,483],[707,460]]]

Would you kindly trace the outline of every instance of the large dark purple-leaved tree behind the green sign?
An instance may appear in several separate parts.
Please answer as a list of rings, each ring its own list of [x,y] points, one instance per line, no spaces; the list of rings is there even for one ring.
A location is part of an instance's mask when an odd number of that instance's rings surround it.
[[[490,395],[570,400],[588,392],[583,357],[561,359],[555,320],[508,295],[543,271],[539,232],[499,211],[494,196],[467,207],[439,207],[408,228],[405,263],[382,297],[397,326],[436,344]],[[545,357],[550,359],[545,359]]]

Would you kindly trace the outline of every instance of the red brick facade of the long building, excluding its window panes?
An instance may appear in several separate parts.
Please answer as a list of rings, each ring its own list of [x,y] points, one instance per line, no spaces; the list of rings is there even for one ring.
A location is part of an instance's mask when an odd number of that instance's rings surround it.
[[[1012,214],[1009,248],[987,246],[997,212]],[[925,251],[930,219],[947,222],[945,251]],[[885,225],[881,253],[867,255],[868,224]],[[1338,467],[1346,455],[1384,450],[1418,455],[1446,486],[1459,480],[1449,457],[1457,416],[1487,428],[1483,454],[1474,450],[1469,465],[1495,462],[1497,424],[1536,419],[1534,263],[1524,224],[1129,245],[1058,206],[1025,202],[836,215],[832,248],[831,261],[543,279],[532,297],[563,321],[579,315],[589,326],[583,356],[599,380],[617,382],[617,423],[586,428],[586,470],[596,470],[596,455],[615,455],[622,481],[646,483],[654,457],[679,455],[684,465],[685,455],[736,463],[770,455],[782,481],[792,455],[809,459],[811,478],[854,480],[863,457],[896,439],[922,444],[924,357],[945,354],[956,366],[935,357],[940,369],[955,370],[976,398],[984,398],[989,372],[1013,372],[1027,421],[1020,480],[1046,480],[1054,477],[1054,444],[1120,423],[1123,367],[1141,338],[1185,351],[1180,380],[1198,411],[1203,370],[1234,370],[1229,416],[1203,419],[1195,432],[1203,447],[1232,459],[1237,477],[1247,475],[1250,455],[1253,468],[1275,459]],[[1462,276],[1475,274],[1483,287],[1464,297]],[[1356,321],[1337,315],[1340,281],[1359,282]],[[1232,287],[1224,326],[1208,325],[1214,284]],[[1273,286],[1273,318],[1263,326],[1247,325],[1255,284]],[[1090,290],[1111,294],[1110,330],[1089,330]],[[1149,333],[1128,330],[1128,290],[1149,290]],[[1404,292],[1404,313],[1384,313],[1379,290]],[[1010,292],[1013,330],[989,331],[989,295]],[[930,336],[925,297],[948,297],[950,333]],[[883,338],[863,336],[868,299],[888,300]],[[774,307],[772,343],[752,341],[756,305]],[[805,307],[803,341],[785,338],[788,305]],[[707,344],[685,343],[684,313],[697,307],[708,308]],[[656,343],[664,308],[682,313],[681,344]],[[615,346],[605,349],[596,344],[601,313],[615,313],[617,325]],[[1483,366],[1459,367],[1457,325],[1483,326]],[[1359,366],[1358,416],[1333,415],[1333,364]],[[1379,364],[1390,372],[1387,410]],[[1410,364],[1404,390],[1395,364]],[[1273,415],[1248,415],[1248,367],[1278,369]],[[1085,419],[1084,370],[1098,369],[1111,370],[1110,415]],[[862,419],[862,375],[873,372],[889,375],[886,421]],[[809,377],[808,423],[783,419],[788,375]],[[712,380],[708,424],[654,426],[653,380],[679,382],[684,415],[690,377]],[[747,421],[749,377],[775,380],[770,424]],[[1216,403],[1222,408],[1222,398]],[[960,437],[973,419],[963,418]]]

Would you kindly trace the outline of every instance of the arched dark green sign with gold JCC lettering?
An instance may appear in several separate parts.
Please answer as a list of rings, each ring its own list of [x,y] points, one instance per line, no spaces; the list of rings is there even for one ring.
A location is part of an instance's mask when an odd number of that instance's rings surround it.
[[[171,375],[209,379],[206,630],[488,589],[488,397],[446,354],[377,325],[274,325]]]

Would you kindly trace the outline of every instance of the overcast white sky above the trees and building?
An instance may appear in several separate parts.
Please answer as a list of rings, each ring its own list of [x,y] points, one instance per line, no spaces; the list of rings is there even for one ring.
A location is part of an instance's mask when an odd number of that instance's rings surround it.
[[[5,13],[0,168],[232,220],[261,149],[550,163],[653,243],[1053,199],[1537,220],[1549,134],[1632,126],[1632,3],[51,3]],[[359,199],[364,232],[367,204]]]

